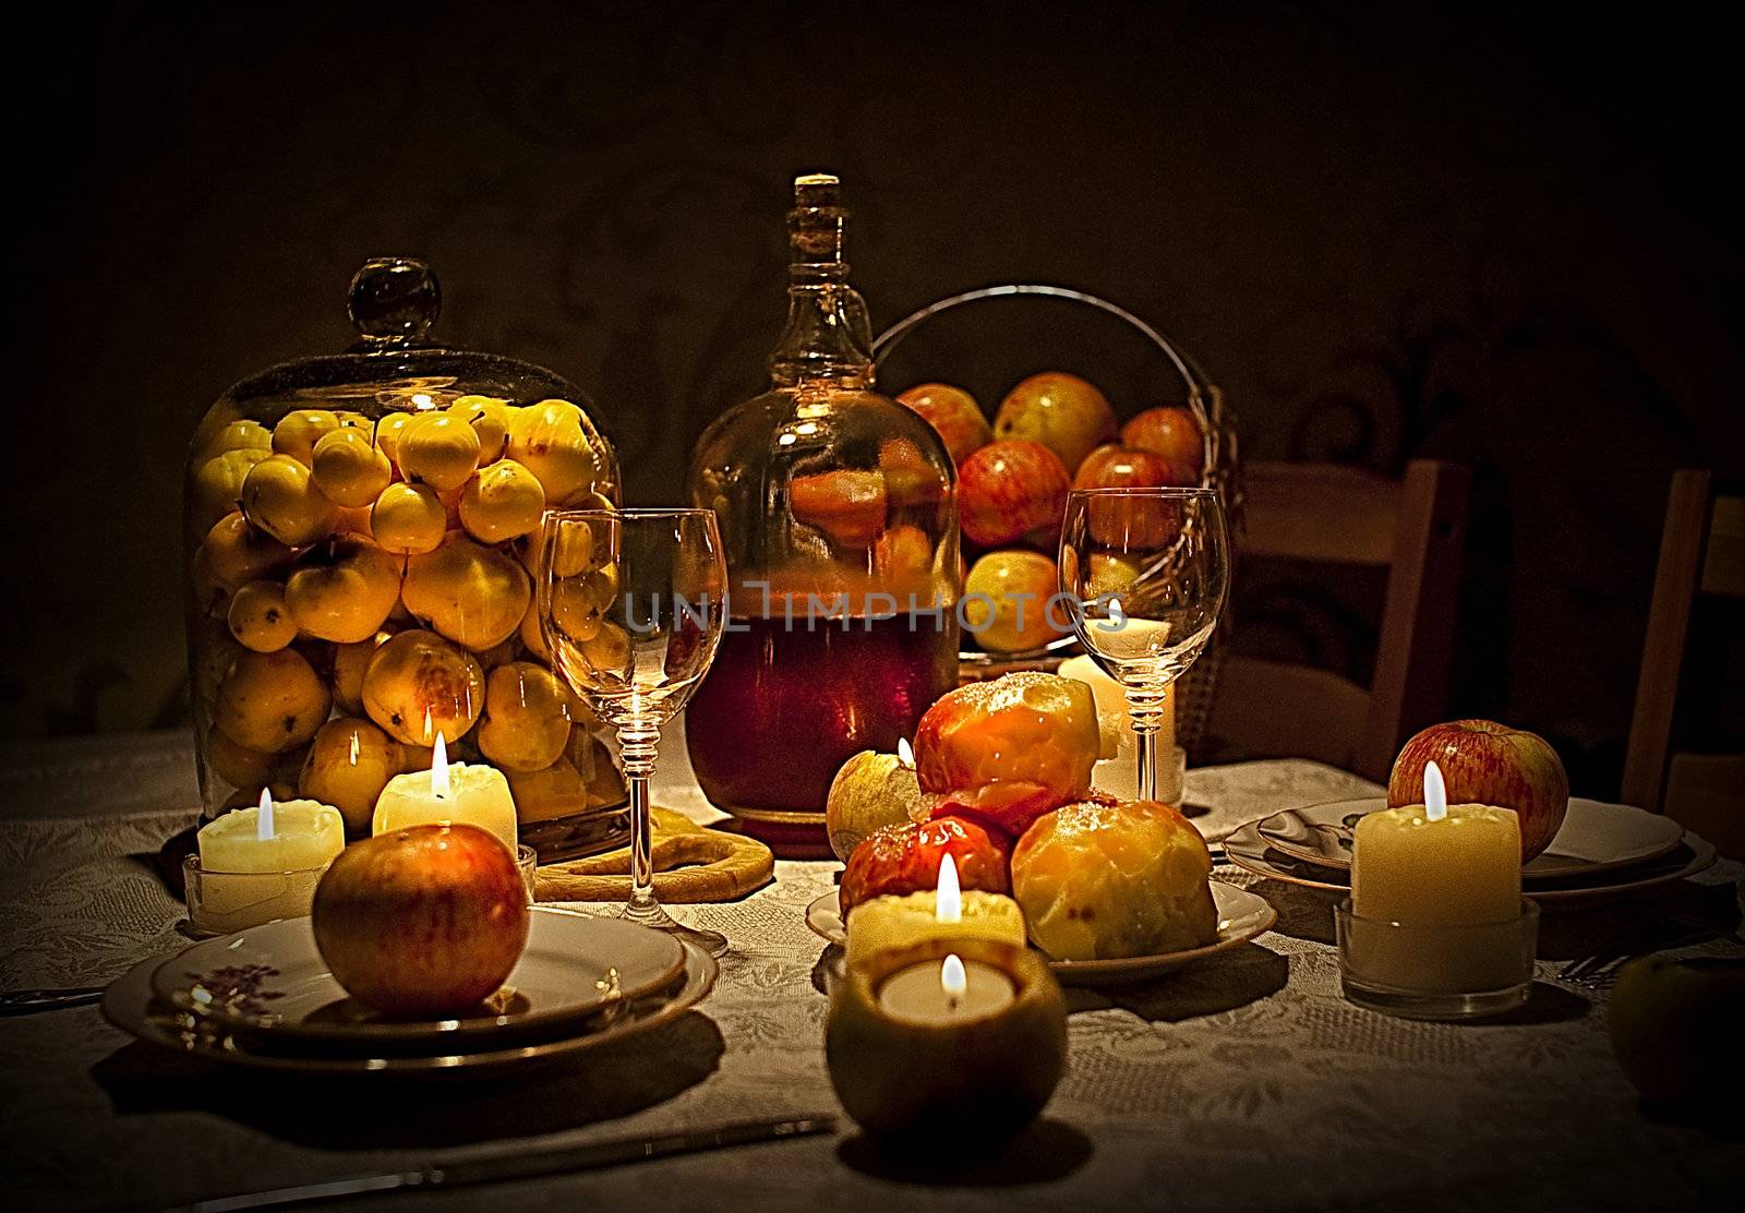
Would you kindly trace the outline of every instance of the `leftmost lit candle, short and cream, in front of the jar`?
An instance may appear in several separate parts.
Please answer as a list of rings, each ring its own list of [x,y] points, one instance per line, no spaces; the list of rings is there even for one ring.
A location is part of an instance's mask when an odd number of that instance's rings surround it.
[[[202,934],[302,918],[321,873],[346,848],[346,819],[316,801],[260,794],[201,827],[183,864],[188,922]]]

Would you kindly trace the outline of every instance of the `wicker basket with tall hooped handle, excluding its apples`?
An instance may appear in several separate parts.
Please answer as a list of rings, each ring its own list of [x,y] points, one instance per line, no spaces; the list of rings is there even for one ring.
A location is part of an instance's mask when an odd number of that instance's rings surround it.
[[[1096,307],[1131,325],[1162,353],[1173,373],[1178,375],[1187,386],[1187,407],[1194,412],[1201,424],[1201,433],[1204,435],[1206,473],[1201,483],[1202,487],[1218,490],[1218,497],[1223,501],[1232,532],[1235,532],[1242,510],[1241,457],[1235,440],[1235,417],[1225,403],[1223,391],[1211,382],[1211,379],[1206,377],[1206,372],[1202,372],[1199,365],[1178,349],[1167,337],[1127,309],[1112,304],[1106,298],[1098,298],[1096,295],[1071,290],[1068,286],[982,286],[981,290],[941,298],[939,302],[928,304],[927,307],[904,316],[900,321],[879,333],[878,340],[872,342],[872,360],[874,363],[883,365],[892,351],[895,351],[909,333],[941,312],[991,298],[1012,297],[1038,297]],[[1052,670],[1057,668],[1063,660],[1080,651],[1082,648],[1075,637],[1061,637],[1059,641],[1030,653],[986,653],[965,648],[958,654],[960,677],[965,682],[972,682],[1010,674],[1014,670]],[[1215,639],[1201,660],[1195,661],[1187,675],[1176,682],[1176,744],[1185,747],[1188,752],[1199,745],[1201,737],[1204,735],[1206,719],[1211,712],[1213,688],[1216,686],[1218,667],[1222,665],[1222,646]]]

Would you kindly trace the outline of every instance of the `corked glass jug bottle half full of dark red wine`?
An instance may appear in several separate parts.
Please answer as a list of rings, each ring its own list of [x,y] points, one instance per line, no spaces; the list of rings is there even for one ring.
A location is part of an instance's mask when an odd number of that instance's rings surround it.
[[[703,792],[789,853],[824,846],[824,801],[857,750],[892,752],[956,686],[956,473],[937,431],[872,389],[834,176],[789,211],[789,314],[770,391],[691,459],[714,510],[729,623],[686,709]]]

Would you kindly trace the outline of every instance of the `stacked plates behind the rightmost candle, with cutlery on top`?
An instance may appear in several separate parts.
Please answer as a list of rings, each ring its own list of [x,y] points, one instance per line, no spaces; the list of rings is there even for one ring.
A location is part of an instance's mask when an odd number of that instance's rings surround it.
[[[1237,867],[1309,888],[1351,890],[1351,831],[1386,808],[1380,796],[1291,808],[1223,840]],[[1591,904],[1694,876],[1715,848],[1675,820],[1628,805],[1570,798],[1544,853],[1522,867],[1522,892],[1544,908]]]

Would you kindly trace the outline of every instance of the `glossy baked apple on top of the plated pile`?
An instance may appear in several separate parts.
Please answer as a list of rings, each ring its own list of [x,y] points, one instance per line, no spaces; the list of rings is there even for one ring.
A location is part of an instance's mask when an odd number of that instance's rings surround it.
[[[1101,750],[1096,700],[1077,679],[1033,670],[942,695],[914,737],[935,815],[968,815],[1017,836],[1091,787]]]

